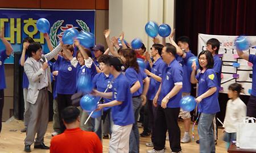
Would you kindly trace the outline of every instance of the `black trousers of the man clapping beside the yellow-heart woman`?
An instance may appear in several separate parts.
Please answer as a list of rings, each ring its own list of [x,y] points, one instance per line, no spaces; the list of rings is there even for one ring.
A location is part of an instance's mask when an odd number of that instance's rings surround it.
[[[158,105],[155,120],[155,150],[162,150],[166,145],[166,132],[168,130],[171,150],[173,152],[181,151],[180,128],[177,122],[179,113],[180,108],[163,109]]]

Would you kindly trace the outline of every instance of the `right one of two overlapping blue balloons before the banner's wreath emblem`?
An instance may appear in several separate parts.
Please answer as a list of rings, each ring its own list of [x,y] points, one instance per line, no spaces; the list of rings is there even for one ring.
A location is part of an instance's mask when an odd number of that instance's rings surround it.
[[[94,35],[90,32],[81,31],[77,36],[80,44],[85,48],[91,48],[94,46]]]

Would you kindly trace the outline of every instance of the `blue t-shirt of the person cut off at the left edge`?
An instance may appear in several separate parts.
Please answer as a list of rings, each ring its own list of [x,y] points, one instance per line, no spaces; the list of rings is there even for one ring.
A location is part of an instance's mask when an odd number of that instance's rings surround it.
[[[5,59],[7,58],[6,50],[0,51],[0,90],[6,88],[5,84]]]

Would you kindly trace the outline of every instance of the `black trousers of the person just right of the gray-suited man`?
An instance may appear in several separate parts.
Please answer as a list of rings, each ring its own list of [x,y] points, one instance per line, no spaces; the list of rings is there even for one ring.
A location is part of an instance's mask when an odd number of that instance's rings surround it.
[[[60,133],[63,133],[64,130],[66,129],[62,121],[61,112],[63,111],[64,108],[72,105],[71,96],[72,95],[57,94],[58,112],[60,117]]]

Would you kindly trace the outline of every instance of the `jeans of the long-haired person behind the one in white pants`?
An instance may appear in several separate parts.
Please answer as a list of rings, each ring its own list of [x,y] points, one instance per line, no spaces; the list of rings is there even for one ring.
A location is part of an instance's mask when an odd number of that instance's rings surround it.
[[[135,122],[133,128],[131,129],[130,139],[129,139],[129,152],[137,153],[139,152],[139,129],[137,126],[137,121],[139,117],[139,110],[142,106],[141,97],[133,97],[133,111]]]

